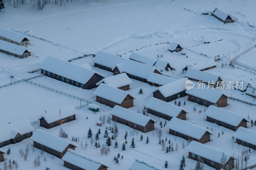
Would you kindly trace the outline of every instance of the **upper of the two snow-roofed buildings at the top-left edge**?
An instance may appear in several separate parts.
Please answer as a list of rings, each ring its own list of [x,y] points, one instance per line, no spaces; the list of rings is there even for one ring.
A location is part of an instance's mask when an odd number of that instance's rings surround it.
[[[14,31],[0,27],[0,40],[13,43],[19,46],[26,46],[29,44],[28,37],[16,33]]]

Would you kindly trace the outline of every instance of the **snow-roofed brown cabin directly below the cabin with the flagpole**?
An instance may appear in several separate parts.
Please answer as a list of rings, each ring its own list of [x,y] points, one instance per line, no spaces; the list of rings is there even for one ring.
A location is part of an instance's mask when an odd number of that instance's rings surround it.
[[[77,148],[76,144],[41,129],[37,129],[30,139],[34,141],[35,148],[43,150],[60,159],[65,155],[68,149],[75,150],[75,148]]]

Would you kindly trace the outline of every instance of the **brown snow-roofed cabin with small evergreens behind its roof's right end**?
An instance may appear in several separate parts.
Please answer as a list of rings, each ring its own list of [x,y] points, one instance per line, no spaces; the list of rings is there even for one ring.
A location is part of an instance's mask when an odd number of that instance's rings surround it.
[[[186,120],[186,114],[188,113],[188,111],[182,107],[156,99],[154,97],[149,98],[144,107],[147,107],[148,113],[162,117],[168,121],[173,117]]]

